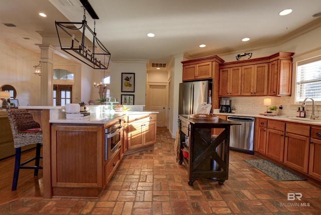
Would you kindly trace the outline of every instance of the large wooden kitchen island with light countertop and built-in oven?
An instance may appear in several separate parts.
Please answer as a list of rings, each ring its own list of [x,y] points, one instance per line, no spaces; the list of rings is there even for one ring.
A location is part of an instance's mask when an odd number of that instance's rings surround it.
[[[98,105],[97,105],[98,106]],[[156,112],[96,112],[90,118],[69,120],[61,107],[20,106],[41,116],[43,129],[44,197],[96,198],[105,188],[127,149],[128,116]],[[45,110],[45,111],[44,111]],[[50,111],[46,111],[50,110]],[[37,117],[36,117],[37,118]],[[117,124],[117,133],[107,129]],[[156,127],[154,127],[156,129]],[[154,132],[155,133],[155,132]],[[110,142],[114,142],[114,149]],[[108,155],[108,156],[107,156]]]

